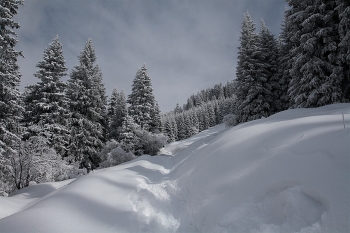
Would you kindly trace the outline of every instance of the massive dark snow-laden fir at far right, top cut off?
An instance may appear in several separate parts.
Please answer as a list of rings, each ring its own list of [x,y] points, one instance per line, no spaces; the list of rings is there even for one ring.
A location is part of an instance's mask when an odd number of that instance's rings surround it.
[[[318,107],[342,101],[343,67],[337,62],[339,36],[335,1],[289,1],[288,24],[299,24],[293,35],[293,108]]]

